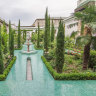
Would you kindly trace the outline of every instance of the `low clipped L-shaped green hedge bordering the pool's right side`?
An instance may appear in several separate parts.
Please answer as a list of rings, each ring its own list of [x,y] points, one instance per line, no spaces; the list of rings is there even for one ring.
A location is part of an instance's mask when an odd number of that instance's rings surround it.
[[[86,73],[57,73],[47,62],[44,56],[41,57],[49,72],[55,80],[96,80],[96,72]]]

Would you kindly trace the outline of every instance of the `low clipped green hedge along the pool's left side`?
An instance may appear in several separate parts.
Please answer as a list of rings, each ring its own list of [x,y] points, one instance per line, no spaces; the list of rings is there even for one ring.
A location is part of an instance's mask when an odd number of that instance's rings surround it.
[[[14,62],[16,61],[16,57],[14,57],[7,68],[4,70],[3,74],[0,74],[0,81],[4,81],[7,78],[8,73],[10,72]]]

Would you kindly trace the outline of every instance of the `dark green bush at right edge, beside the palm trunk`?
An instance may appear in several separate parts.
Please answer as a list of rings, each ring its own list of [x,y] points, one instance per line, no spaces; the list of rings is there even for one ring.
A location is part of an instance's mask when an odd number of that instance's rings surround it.
[[[89,65],[90,68],[93,68],[96,66],[96,51],[91,50],[90,51],[90,58],[89,58]]]

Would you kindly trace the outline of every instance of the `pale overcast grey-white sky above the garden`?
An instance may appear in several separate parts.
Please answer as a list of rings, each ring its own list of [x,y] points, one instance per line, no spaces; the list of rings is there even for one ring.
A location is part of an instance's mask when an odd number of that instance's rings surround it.
[[[77,7],[77,0],[0,0],[0,18],[15,25],[30,26],[44,18],[46,7],[51,17],[67,17]]]

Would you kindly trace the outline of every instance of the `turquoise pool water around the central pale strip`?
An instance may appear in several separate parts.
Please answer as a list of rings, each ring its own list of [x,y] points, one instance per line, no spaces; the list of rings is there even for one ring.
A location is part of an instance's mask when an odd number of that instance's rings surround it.
[[[22,50],[27,50],[27,46],[24,45]],[[42,54],[42,50],[33,55],[15,51],[17,60],[7,79],[0,82],[0,96],[96,96],[95,80],[55,81],[41,60]],[[26,80],[27,57],[31,57],[32,81]]]

